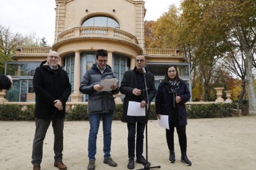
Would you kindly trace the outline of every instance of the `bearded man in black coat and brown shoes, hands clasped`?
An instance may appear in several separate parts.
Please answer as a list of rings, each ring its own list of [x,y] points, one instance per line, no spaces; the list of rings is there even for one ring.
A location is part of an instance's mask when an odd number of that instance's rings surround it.
[[[67,169],[62,163],[63,129],[66,112],[66,102],[71,92],[67,72],[61,68],[59,54],[49,52],[47,60],[36,68],[33,76],[35,90],[35,138],[33,140],[32,164],[33,169],[40,169],[43,156],[43,140],[49,124],[52,123],[54,132],[54,166]]]

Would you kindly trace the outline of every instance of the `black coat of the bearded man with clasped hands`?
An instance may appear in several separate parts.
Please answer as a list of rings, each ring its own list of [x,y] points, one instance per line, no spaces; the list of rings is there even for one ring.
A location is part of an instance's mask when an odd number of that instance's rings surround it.
[[[36,68],[33,77],[36,94],[35,117],[41,119],[64,118],[66,102],[71,92],[67,72],[58,65],[58,70],[51,70],[46,61]],[[61,100],[63,110],[54,107],[54,100]]]

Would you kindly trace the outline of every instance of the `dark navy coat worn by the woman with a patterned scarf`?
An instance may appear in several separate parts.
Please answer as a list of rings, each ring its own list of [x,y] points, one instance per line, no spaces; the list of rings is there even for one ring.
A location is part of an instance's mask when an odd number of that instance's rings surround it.
[[[171,99],[169,95],[168,84],[161,82],[158,86],[158,91],[156,93],[156,101],[155,101],[155,108],[156,114],[160,115],[169,115],[169,121],[171,121]],[[190,99],[190,92],[187,88],[187,84],[181,80],[179,83],[179,89],[177,90],[177,95],[181,97],[181,102],[176,103],[177,105],[177,113],[178,113],[178,120],[180,126],[185,126],[187,124],[187,111],[185,103]]]

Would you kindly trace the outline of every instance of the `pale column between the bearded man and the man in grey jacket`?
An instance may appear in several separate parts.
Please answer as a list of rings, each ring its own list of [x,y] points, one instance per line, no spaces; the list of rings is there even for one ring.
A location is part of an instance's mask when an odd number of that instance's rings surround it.
[[[75,51],[74,64],[74,93],[71,94],[71,102],[82,102],[83,95],[79,92],[80,87],[80,51]]]

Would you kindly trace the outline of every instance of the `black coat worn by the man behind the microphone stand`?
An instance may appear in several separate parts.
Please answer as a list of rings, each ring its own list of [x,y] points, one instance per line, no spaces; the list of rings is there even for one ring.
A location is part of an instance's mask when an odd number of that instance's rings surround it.
[[[145,92],[142,92],[139,96],[132,94],[133,89],[137,88],[137,78],[136,78],[136,68],[134,70],[129,70],[124,73],[124,78],[122,79],[120,92],[125,94],[122,112],[122,122],[126,123],[146,123],[146,116],[127,116],[129,101],[141,102],[146,100]],[[146,75],[147,87],[148,87],[148,99],[150,102],[154,99],[156,94],[155,87],[155,77],[152,73],[147,71]],[[143,89],[145,89],[145,84],[143,84]],[[142,90],[142,89],[141,89]]]

